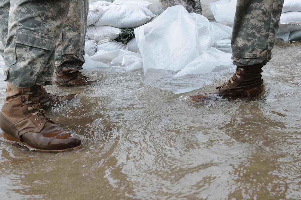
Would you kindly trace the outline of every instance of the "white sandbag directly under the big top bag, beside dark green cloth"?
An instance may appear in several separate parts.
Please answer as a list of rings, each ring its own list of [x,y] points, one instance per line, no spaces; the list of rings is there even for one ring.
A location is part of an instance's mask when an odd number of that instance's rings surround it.
[[[121,29],[111,26],[94,26],[87,27],[86,38],[93,39],[97,43],[110,42],[118,38]]]

